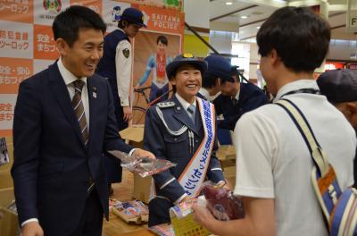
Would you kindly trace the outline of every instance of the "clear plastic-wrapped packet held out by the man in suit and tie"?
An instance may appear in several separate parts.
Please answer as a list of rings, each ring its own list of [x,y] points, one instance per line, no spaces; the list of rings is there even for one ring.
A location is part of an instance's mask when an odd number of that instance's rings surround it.
[[[118,157],[121,161],[121,167],[126,168],[129,172],[137,173],[141,177],[161,173],[176,164],[168,160],[152,159],[149,157],[128,156],[128,154],[113,150],[108,151],[112,156]]]

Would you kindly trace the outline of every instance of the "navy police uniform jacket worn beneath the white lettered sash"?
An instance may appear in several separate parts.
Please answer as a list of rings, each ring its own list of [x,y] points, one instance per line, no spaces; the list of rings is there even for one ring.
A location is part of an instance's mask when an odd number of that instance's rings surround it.
[[[195,153],[204,136],[203,123],[198,105],[196,105],[194,123],[191,118],[189,118],[187,111],[184,110],[176,96],[172,96],[162,104],[165,103],[170,103],[170,106],[161,108],[163,119],[167,123],[167,126],[171,131],[179,131],[183,125],[186,125],[189,130],[193,131]],[[158,105],[160,106],[160,104]],[[177,165],[162,173],[154,174],[153,176],[156,195],[166,198],[156,198],[155,202],[160,199],[162,201],[169,201],[170,204],[166,207],[161,207],[159,205],[157,207],[150,205],[149,207],[152,212],[163,211],[167,213],[168,216],[169,206],[172,206],[172,204],[185,193],[185,190],[179,184],[178,179],[180,174],[184,172],[193,154],[189,151],[188,131],[185,131],[180,135],[170,134],[165,128],[159,114],[156,112],[156,106],[158,105],[150,107],[146,112],[144,147],[146,150],[153,152],[156,158],[170,160]],[[215,139],[211,160],[206,173],[206,178],[213,182],[224,181],[223,172],[220,168],[220,161],[215,156],[217,148],[217,139]],[[152,202],[150,202],[150,204],[151,203]],[[152,217],[152,215],[149,217]],[[150,219],[149,223],[150,222],[153,222],[153,219]]]

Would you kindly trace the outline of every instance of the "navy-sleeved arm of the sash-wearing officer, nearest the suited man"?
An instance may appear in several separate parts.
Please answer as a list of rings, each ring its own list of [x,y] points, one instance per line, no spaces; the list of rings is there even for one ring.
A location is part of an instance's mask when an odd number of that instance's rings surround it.
[[[163,129],[165,128],[162,126],[154,107],[149,108],[145,115],[144,148],[152,151],[157,159],[167,159]],[[169,198],[172,203],[179,203],[186,197],[185,190],[170,173],[170,170],[154,174],[153,178],[158,194]]]

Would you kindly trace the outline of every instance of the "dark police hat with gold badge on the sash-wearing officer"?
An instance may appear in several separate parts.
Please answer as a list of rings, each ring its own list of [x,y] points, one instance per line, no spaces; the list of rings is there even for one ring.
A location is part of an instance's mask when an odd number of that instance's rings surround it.
[[[197,59],[192,54],[183,54],[176,56],[175,59],[166,66],[166,74],[168,75],[168,78],[171,79],[171,77],[174,77],[179,67],[184,64],[193,65],[196,69],[200,70],[202,75],[207,71],[206,62]]]

